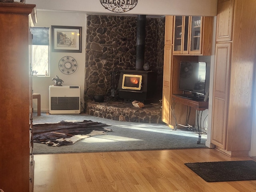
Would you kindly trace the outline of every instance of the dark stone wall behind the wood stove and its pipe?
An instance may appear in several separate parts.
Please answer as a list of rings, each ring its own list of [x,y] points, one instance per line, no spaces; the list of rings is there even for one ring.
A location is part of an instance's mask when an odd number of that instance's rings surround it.
[[[135,16],[87,15],[84,99],[96,94],[110,96],[112,72],[134,68],[136,61]],[[157,71],[162,98],[165,18],[146,19],[145,62]],[[115,82],[116,83],[116,82]],[[86,103],[85,103],[86,107]]]

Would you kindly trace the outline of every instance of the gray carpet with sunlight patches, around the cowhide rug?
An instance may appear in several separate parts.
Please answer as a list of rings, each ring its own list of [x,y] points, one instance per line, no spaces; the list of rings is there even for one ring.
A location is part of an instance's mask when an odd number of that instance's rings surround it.
[[[164,150],[182,148],[205,148],[206,135],[202,135],[201,144],[197,144],[198,134],[193,131],[173,131],[165,124],[147,124],[109,120],[87,114],[47,115],[33,114],[33,124],[56,123],[62,120],[92,120],[105,123],[112,129],[107,135],[92,136],[70,146],[52,147],[34,143],[33,154],[55,154],[76,152],[105,152],[128,150]]]

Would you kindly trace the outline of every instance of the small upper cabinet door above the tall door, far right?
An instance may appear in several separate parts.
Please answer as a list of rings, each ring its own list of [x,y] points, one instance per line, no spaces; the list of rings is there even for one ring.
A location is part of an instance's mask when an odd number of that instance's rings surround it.
[[[216,41],[232,40],[234,0],[218,0]]]

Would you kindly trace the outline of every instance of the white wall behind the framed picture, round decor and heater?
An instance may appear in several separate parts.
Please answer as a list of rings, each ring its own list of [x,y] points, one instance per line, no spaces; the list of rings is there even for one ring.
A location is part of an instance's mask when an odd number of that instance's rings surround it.
[[[84,104],[84,69],[85,69],[85,34],[86,34],[86,14],[75,12],[53,12],[37,10],[37,24],[35,26],[50,27],[59,26],[82,26],[82,53],[71,52],[50,52],[50,76],[33,77],[33,91],[41,94],[41,110],[49,111],[49,86],[52,85],[56,75],[64,81],[62,85],[76,85],[81,87],[81,101]],[[51,40],[51,35],[50,35]],[[60,72],[58,63],[64,56],[73,57],[78,67],[73,74],[66,75]],[[37,109],[36,100],[33,100],[33,108]],[[82,110],[82,108],[81,108]]]

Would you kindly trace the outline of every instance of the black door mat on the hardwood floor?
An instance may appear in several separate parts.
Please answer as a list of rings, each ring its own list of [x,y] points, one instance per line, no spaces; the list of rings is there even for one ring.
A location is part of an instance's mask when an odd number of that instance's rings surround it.
[[[185,165],[207,182],[256,180],[256,162],[253,160],[197,162]]]

